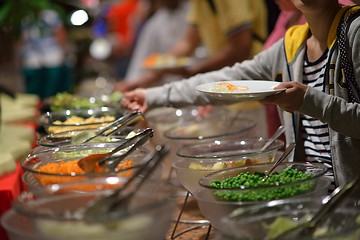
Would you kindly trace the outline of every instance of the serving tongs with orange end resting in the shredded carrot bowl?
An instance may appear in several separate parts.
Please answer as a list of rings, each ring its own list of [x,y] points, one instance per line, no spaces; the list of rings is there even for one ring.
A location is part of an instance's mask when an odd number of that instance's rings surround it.
[[[92,172],[97,164],[100,167],[105,167],[107,171],[114,172],[117,165],[125,159],[130,153],[135,151],[138,147],[142,146],[147,140],[152,137],[154,134],[154,130],[151,128],[146,128],[140,133],[136,134],[132,138],[129,138],[125,142],[121,143],[118,147],[113,149],[108,153],[100,153],[100,154],[92,154],[81,158],[78,161],[78,166],[84,172]],[[124,154],[120,156],[114,156],[120,150],[125,150]]]

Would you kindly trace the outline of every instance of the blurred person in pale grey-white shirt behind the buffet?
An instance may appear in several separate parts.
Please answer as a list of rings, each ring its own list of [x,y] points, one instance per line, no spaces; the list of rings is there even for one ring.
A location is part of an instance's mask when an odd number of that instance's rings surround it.
[[[186,29],[187,0],[152,0],[155,13],[144,23],[128,66],[126,77],[116,85],[119,91],[133,89],[139,81],[146,79],[147,74],[143,62],[152,54],[165,54],[183,36]],[[166,77],[168,78],[168,77]],[[179,77],[169,76],[170,80]]]

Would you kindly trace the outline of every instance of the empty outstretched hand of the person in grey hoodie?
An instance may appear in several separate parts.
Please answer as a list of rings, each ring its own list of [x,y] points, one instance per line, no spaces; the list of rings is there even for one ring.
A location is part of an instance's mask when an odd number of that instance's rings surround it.
[[[124,93],[122,105],[124,108],[132,111],[146,112],[148,105],[146,103],[146,90],[144,88],[137,88],[133,91]]]

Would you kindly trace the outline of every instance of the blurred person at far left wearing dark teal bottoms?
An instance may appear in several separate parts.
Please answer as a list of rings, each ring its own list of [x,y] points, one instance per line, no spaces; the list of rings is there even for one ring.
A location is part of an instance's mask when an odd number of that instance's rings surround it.
[[[31,14],[22,19],[18,48],[27,93],[45,99],[72,90],[69,46],[66,29],[55,10],[42,10],[38,17]]]

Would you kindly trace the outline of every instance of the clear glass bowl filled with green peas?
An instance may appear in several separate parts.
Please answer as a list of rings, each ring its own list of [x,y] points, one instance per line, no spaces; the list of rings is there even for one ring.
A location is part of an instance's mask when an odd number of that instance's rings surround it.
[[[324,165],[283,162],[262,182],[261,176],[272,164],[228,168],[201,177],[202,188],[193,194],[201,213],[218,228],[220,219],[237,208],[328,193],[331,181],[324,176]]]

